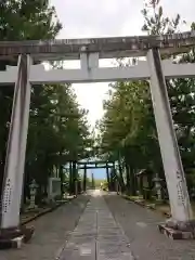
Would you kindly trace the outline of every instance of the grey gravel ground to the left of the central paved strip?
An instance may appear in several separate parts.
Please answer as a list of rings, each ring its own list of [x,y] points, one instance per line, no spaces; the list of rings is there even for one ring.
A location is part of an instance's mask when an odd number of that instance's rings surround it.
[[[29,244],[0,251],[0,260],[54,260],[74,231],[90,196],[80,195],[53,212],[29,223],[36,229]]]

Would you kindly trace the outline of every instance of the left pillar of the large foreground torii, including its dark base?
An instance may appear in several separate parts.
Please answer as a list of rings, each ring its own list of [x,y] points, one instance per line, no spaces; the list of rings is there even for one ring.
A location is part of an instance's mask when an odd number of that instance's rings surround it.
[[[28,81],[30,64],[29,55],[20,55],[2,185],[0,248],[21,247],[22,242],[34,233],[34,229],[22,227],[20,223],[31,91]]]

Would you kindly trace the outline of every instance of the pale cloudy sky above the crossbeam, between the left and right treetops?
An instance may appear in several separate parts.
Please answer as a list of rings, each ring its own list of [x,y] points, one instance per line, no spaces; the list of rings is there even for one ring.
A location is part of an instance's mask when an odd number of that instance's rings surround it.
[[[142,18],[140,0],[52,0],[51,3],[64,25],[61,37],[65,38],[118,36],[128,21],[133,23],[131,31],[136,27],[133,18]]]

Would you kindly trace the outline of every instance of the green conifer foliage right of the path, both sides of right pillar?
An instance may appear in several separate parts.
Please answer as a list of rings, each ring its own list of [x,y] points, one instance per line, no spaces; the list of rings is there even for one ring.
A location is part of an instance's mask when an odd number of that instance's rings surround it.
[[[142,14],[142,29],[148,35],[172,34],[184,23],[179,14],[174,20],[166,17],[159,0],[146,3]],[[171,58],[176,62],[194,62],[194,54],[192,50]],[[125,64],[121,60],[119,66],[129,66],[132,62],[134,60]],[[173,122],[186,172],[194,168],[194,79],[167,81]],[[104,102],[104,117],[98,123],[101,132],[101,153],[106,158],[118,160],[120,185],[125,185],[126,172],[126,188],[135,194],[135,173],[139,170],[147,169],[151,176],[158,172],[164,178],[148,82],[116,82],[110,84],[109,93],[109,100]],[[150,180],[152,181],[152,178]]]

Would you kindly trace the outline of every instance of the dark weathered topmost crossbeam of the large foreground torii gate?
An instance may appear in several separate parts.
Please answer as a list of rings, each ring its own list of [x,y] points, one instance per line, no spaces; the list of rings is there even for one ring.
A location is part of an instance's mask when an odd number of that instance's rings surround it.
[[[162,36],[108,37],[0,41],[1,58],[30,54],[36,61],[80,60],[80,53],[99,53],[100,58],[145,56],[152,48],[161,54],[182,53],[195,44],[195,31]]]

